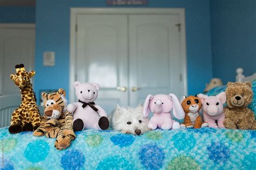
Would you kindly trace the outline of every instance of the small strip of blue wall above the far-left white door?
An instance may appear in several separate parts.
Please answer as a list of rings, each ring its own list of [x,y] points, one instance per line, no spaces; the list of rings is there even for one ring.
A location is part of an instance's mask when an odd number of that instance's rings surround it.
[[[35,6],[0,6],[0,23],[35,23]]]

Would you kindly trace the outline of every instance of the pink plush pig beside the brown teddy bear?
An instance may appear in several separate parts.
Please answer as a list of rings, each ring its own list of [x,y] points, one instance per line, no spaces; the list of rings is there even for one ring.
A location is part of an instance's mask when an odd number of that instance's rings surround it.
[[[226,103],[226,93],[221,92],[217,96],[207,96],[199,94],[203,103],[204,121],[208,123],[209,128],[224,128],[223,121],[225,119],[223,104]],[[216,122],[218,125],[216,124]]]

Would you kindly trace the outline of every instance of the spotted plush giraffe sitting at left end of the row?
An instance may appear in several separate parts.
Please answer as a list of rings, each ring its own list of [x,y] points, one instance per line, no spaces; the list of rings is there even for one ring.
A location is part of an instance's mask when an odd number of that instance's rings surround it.
[[[21,91],[22,103],[12,113],[9,132],[33,131],[41,124],[36,97],[30,82],[31,77],[36,73],[35,71],[26,72],[23,64],[16,65],[15,68],[16,74],[11,74],[10,77]]]

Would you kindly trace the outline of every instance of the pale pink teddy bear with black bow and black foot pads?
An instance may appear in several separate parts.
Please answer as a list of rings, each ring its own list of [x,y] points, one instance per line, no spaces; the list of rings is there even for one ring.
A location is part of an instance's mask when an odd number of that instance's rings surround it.
[[[99,84],[74,82],[73,87],[76,89],[78,102],[70,103],[68,111],[73,113],[74,131],[109,128],[106,112],[93,102],[98,96]]]

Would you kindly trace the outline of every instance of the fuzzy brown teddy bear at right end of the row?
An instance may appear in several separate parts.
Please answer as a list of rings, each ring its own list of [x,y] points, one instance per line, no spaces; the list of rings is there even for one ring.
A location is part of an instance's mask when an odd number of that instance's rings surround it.
[[[224,126],[227,129],[256,129],[254,113],[247,108],[252,102],[251,82],[228,82]]]

